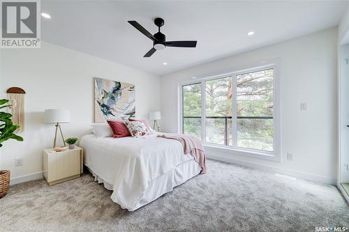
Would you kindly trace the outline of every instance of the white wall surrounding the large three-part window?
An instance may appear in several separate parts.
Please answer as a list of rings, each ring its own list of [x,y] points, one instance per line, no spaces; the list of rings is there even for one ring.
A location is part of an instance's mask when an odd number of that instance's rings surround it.
[[[166,132],[178,131],[179,83],[190,81],[194,76],[205,77],[251,63],[279,59],[281,162],[210,150],[207,155],[334,184],[337,160],[336,45],[337,29],[333,28],[165,75],[161,78],[162,128]],[[301,102],[307,103],[307,111],[300,111]],[[286,160],[287,152],[293,153],[294,161]]]

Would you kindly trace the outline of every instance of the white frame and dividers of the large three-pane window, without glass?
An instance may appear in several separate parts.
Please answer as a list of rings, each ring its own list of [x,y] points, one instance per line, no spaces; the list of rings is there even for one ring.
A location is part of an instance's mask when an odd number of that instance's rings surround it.
[[[249,68],[248,68],[249,67]],[[252,67],[252,68],[251,68]],[[258,72],[262,70],[273,69],[273,124],[274,124],[274,137],[273,137],[273,151],[257,150],[251,148],[239,148],[237,147],[237,75],[242,75],[247,72]],[[265,160],[272,160],[281,162],[281,99],[280,99],[280,78],[279,78],[279,61],[264,61],[263,65],[248,65],[246,68],[230,70],[218,75],[207,75],[203,77],[195,78],[188,82],[179,83],[179,125],[178,131],[183,133],[184,129],[184,112],[183,112],[183,86],[191,84],[201,83],[201,139],[202,144],[207,150],[217,151],[220,153],[227,153],[228,155],[243,155],[249,157],[257,157]],[[224,77],[232,78],[233,96],[232,99],[232,139],[235,146],[227,146],[221,144],[206,143],[206,99],[205,99],[205,82],[211,79],[221,79]]]

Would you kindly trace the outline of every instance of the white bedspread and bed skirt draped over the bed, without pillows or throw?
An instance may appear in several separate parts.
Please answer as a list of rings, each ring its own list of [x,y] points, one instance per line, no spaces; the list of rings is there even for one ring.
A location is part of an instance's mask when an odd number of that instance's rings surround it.
[[[136,210],[200,173],[179,141],[156,135],[114,139],[87,134],[80,140],[84,165],[113,191],[111,199],[121,208]]]

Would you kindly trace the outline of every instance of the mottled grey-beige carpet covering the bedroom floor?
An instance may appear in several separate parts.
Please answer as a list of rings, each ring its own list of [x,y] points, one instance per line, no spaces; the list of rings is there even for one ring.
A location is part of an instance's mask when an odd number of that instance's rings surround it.
[[[87,173],[48,186],[36,180],[0,199],[0,231],[315,231],[349,227],[349,206],[332,185],[287,180],[208,160],[205,175],[128,212]]]

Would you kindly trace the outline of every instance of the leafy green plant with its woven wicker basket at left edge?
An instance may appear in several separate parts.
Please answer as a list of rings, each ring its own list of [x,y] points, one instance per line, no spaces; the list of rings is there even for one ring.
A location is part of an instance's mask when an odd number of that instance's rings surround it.
[[[0,109],[10,107],[7,99],[0,100]],[[17,141],[23,141],[23,138],[13,133],[19,125],[13,125],[11,121],[12,114],[0,111],[0,148],[4,141],[8,139],[15,139]],[[0,199],[8,193],[10,187],[10,171],[0,170]]]

